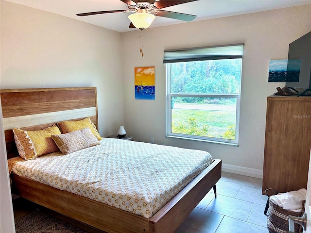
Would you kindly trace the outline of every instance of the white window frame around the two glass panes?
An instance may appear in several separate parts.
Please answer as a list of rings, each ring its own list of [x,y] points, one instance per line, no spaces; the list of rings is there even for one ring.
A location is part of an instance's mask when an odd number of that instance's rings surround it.
[[[187,61],[184,61],[184,62],[187,62]],[[166,137],[238,146],[239,145],[239,129],[240,129],[241,84],[242,84],[242,60],[241,60],[241,77],[240,77],[239,94],[172,93],[171,92],[172,90],[171,89],[171,63],[166,63],[166,126],[165,126]],[[235,140],[225,139],[225,138],[216,138],[216,137],[207,137],[207,136],[197,136],[197,135],[182,134],[182,133],[172,133],[172,97],[236,98],[237,106],[236,106]]]

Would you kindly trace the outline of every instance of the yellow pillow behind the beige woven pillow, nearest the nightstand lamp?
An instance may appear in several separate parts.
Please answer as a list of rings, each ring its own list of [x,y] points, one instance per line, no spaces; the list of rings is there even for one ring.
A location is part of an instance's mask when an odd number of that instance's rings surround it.
[[[94,123],[89,117],[76,121],[60,121],[57,122],[57,125],[62,133],[70,133],[72,131],[89,128],[98,140],[102,140],[101,135],[99,135]]]

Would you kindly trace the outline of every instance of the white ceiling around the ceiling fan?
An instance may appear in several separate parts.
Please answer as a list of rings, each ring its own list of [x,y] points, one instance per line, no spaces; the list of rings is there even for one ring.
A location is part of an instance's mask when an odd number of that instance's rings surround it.
[[[57,15],[74,18],[117,32],[128,32],[138,29],[129,29],[130,13],[108,13],[101,15],[76,16],[78,13],[127,10],[127,5],[121,0],[9,0],[21,5],[33,7]],[[138,0],[137,0],[138,1]],[[143,0],[139,0],[143,1]],[[163,8],[163,10],[196,15],[193,21],[236,16],[247,13],[267,11],[291,6],[311,4],[311,0],[198,0],[176,6]],[[185,23],[184,21],[156,17],[152,27],[160,27]],[[146,29],[148,30],[148,29]]]

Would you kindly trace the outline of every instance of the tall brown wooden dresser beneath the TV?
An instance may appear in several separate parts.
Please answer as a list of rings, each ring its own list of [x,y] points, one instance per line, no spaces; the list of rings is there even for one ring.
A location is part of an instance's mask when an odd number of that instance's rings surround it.
[[[310,148],[311,97],[268,97],[262,192],[307,188]]]

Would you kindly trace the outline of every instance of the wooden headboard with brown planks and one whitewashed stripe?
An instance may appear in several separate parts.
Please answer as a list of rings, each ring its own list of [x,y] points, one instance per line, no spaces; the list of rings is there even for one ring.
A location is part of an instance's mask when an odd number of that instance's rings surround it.
[[[18,156],[13,128],[42,130],[86,117],[98,128],[96,87],[2,89],[0,96],[8,159]]]

